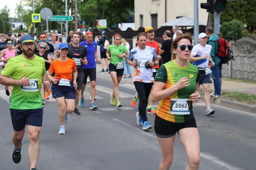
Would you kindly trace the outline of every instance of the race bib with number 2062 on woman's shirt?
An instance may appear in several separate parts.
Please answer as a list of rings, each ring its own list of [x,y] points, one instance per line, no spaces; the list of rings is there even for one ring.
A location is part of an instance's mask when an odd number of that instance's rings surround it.
[[[171,98],[171,114],[175,115],[189,115],[190,107],[189,107],[189,99],[179,99],[179,98]]]

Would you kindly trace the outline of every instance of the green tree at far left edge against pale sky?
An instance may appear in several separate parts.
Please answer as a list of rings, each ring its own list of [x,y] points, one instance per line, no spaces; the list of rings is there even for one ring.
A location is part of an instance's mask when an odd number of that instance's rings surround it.
[[[9,33],[11,31],[10,9],[5,5],[0,10],[0,33]]]

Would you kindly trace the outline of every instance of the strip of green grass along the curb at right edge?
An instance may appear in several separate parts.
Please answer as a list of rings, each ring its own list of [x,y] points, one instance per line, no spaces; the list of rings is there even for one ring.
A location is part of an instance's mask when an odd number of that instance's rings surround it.
[[[256,95],[241,92],[230,92],[227,90],[222,91],[222,98],[231,98],[233,100],[244,102],[249,105],[256,105]]]

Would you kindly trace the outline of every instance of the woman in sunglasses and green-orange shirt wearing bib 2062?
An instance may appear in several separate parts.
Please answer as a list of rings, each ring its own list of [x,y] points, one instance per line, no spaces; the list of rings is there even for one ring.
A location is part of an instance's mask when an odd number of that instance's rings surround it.
[[[197,170],[200,139],[192,103],[198,102],[198,68],[188,62],[193,46],[185,34],[172,43],[172,60],[161,65],[155,77],[152,100],[160,101],[155,117],[155,133],[162,150],[159,170],[170,168],[176,132],[188,157],[186,169]]]

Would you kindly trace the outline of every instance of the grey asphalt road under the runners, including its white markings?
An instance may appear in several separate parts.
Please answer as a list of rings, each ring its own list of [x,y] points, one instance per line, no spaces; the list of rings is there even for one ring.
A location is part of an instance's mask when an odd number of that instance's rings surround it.
[[[106,75],[105,75],[106,76]],[[40,133],[38,170],[157,170],[161,151],[153,129],[145,132],[136,125],[138,107],[130,100],[135,94],[132,84],[121,81],[120,101],[123,107],[109,103],[112,82],[98,76],[95,104],[98,111],[78,108],[81,115],[70,115],[66,135],[58,135],[58,108],[54,99],[44,105],[43,127]],[[86,98],[89,98],[86,89]],[[28,139],[22,145],[22,160],[12,162],[12,123],[8,97],[0,85],[0,170],[27,170]],[[154,103],[157,105],[157,103]],[[256,169],[256,115],[227,107],[212,105],[216,114],[205,116],[201,101],[194,105],[195,119],[200,134],[200,170],[255,170]],[[148,114],[154,124],[155,115]],[[175,139],[172,170],[185,169],[187,157],[184,148]]]

